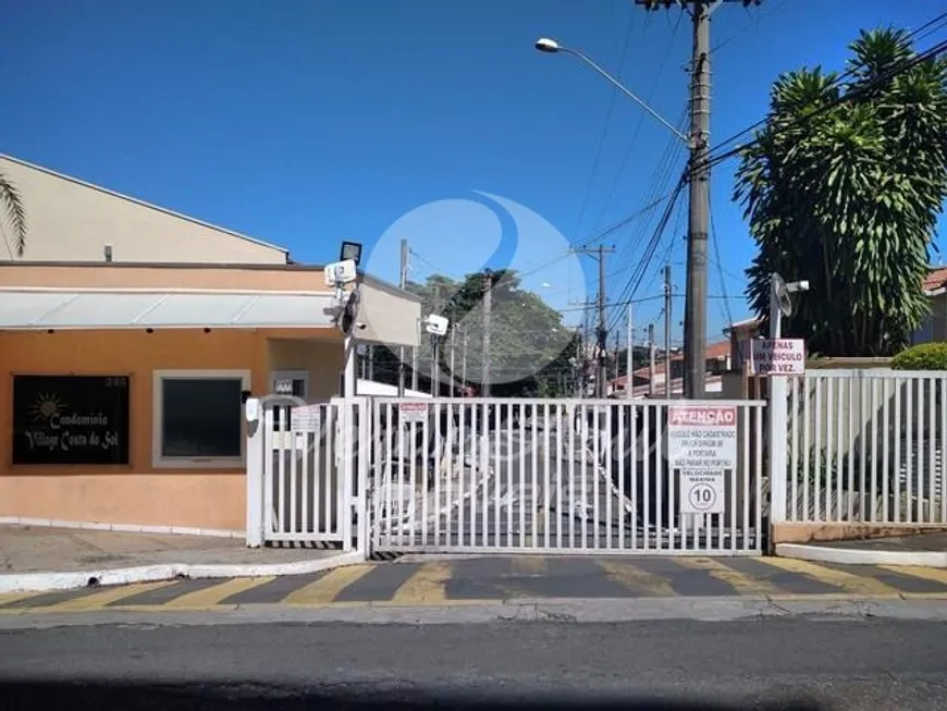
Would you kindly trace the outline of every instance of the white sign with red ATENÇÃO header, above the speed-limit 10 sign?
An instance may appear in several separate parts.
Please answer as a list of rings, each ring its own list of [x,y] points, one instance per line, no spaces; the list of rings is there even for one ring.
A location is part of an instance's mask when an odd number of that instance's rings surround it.
[[[737,408],[675,405],[667,415],[667,457],[675,469],[723,471],[737,467]]]

